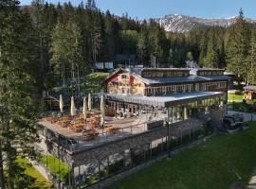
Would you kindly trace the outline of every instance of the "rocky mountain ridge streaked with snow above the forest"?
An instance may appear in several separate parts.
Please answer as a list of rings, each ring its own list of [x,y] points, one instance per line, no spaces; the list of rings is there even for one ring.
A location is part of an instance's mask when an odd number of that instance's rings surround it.
[[[236,16],[230,18],[207,19],[185,16],[181,14],[170,14],[163,18],[155,19],[166,31],[172,32],[187,32],[195,26],[224,26],[228,27],[235,23]],[[248,22],[255,22],[255,20],[247,19]]]

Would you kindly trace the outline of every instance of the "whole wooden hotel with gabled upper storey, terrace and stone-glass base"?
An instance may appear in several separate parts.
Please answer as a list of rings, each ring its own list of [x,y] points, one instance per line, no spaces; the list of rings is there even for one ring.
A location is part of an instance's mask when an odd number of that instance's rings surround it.
[[[101,188],[122,171],[221,127],[229,83],[223,73],[117,69],[105,79],[105,93],[92,94],[92,110],[85,118],[68,112],[43,118],[38,125],[42,142],[37,146],[58,158],[56,167],[60,161],[69,167],[65,180],[56,174],[50,177],[55,187]],[[103,123],[100,98],[105,105]]]

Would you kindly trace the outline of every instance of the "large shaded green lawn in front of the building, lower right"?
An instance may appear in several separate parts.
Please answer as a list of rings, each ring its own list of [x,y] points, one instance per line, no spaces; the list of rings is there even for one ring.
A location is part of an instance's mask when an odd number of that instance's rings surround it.
[[[250,129],[218,135],[151,167],[115,182],[109,189],[228,189],[247,182],[256,166],[256,122]],[[235,174],[236,173],[236,174]]]

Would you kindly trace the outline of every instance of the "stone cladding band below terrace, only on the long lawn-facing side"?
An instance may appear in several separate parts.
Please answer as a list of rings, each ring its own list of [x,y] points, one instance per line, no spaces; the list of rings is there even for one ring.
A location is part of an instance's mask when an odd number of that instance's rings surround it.
[[[212,119],[211,124],[213,126],[219,125],[222,119],[223,112],[222,111],[215,111],[210,113],[210,117]],[[172,131],[176,131],[180,127],[183,128],[198,128],[200,122],[196,120],[185,120],[183,122],[177,122],[172,124],[171,127],[171,134]],[[103,144],[101,146],[92,147],[90,149],[74,153],[72,155],[72,162],[74,166],[78,166],[80,164],[91,163],[92,160],[96,162],[100,159],[104,159],[107,156],[113,154],[122,154],[126,149],[143,149],[146,145],[151,144],[152,141],[160,139],[162,137],[166,137],[168,129],[167,127],[161,127],[157,129],[152,129],[144,133],[140,133],[134,136],[127,137],[125,139],[121,139],[119,141],[114,141],[109,144]]]

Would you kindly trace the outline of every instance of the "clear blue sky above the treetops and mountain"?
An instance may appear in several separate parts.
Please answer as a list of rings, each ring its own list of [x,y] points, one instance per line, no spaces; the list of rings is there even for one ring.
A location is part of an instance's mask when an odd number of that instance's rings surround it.
[[[20,0],[22,5],[30,0]],[[46,1],[46,0],[45,0]],[[184,14],[204,18],[226,18],[244,9],[246,17],[256,18],[256,0],[95,0],[98,8],[109,9],[116,15],[128,12],[133,18],[147,19],[167,14]],[[51,3],[64,3],[65,0],[48,0]],[[78,5],[81,0],[71,0]],[[84,2],[84,1],[83,1]]]

